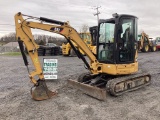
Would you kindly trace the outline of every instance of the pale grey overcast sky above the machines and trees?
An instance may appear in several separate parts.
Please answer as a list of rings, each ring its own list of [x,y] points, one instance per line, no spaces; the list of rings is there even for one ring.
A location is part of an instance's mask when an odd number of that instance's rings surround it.
[[[69,21],[79,31],[83,24],[97,25],[94,6],[101,6],[100,19],[111,18],[113,13],[135,15],[139,18],[139,32],[143,30],[153,38],[160,36],[159,0],[0,0],[0,36],[15,32],[14,15],[17,12]]]

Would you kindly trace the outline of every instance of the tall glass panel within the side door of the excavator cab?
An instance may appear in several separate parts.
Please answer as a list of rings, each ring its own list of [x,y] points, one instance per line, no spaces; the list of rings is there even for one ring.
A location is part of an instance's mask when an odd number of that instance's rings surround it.
[[[126,61],[133,61],[134,59],[134,50],[135,44],[134,42],[137,39],[137,29],[136,29],[136,21],[134,19],[122,19],[121,26],[122,31],[120,33],[119,41],[119,61],[126,62]],[[141,36],[138,36],[138,40]]]

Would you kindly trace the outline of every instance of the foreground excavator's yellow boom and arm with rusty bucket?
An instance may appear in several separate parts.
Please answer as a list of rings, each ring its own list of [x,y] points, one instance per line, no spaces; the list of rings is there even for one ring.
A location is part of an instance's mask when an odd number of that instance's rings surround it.
[[[27,17],[27,18],[24,19],[23,17]],[[32,21],[29,21],[30,19]],[[36,20],[36,22],[34,22],[33,20],[34,21]],[[44,22],[46,22],[46,24],[44,24]],[[44,75],[43,75],[40,61],[38,58],[37,49],[39,48],[39,46],[34,41],[31,28],[60,34],[69,41],[69,43],[71,44],[71,47],[73,48],[74,48],[74,45],[72,44],[71,41],[75,42],[77,46],[81,48],[82,51],[90,59],[90,65],[87,63],[87,61],[82,55],[79,54],[79,57],[84,61],[84,63],[86,64],[88,69],[91,71],[91,73],[98,74],[97,69],[95,69],[98,66],[98,61],[96,57],[93,55],[93,53],[88,48],[88,46],[84,43],[84,41],[80,38],[77,31],[74,28],[72,28],[67,22],[56,21],[56,20],[43,18],[43,17],[37,18],[37,17],[24,15],[22,13],[17,13],[15,15],[15,25],[16,25],[16,39],[18,40],[20,50],[24,59],[24,63],[28,68],[27,57],[25,56],[25,53],[23,51],[24,49],[23,43],[27,48],[28,54],[35,67],[35,70],[32,72],[30,72],[28,69],[29,78],[31,79],[31,82],[35,86],[34,91],[32,91],[31,93],[33,99],[35,100],[48,99],[51,96],[55,95],[56,92],[51,92],[50,90],[48,90],[46,86]],[[76,51],[75,48],[74,50]],[[39,78],[38,80],[36,80],[36,76],[38,76]]]

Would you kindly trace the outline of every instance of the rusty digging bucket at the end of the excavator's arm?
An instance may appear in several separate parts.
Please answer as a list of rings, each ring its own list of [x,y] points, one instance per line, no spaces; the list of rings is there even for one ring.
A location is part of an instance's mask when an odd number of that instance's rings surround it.
[[[35,89],[31,89],[31,95],[34,100],[46,100],[56,95],[57,92],[52,92],[48,89],[45,80],[38,80],[38,85],[35,86]]]

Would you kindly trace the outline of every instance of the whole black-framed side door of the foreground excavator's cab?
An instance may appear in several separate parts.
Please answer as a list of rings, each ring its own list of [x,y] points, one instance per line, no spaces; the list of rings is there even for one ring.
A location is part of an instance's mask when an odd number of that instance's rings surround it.
[[[116,63],[134,63],[137,49],[137,23],[136,18],[120,18],[117,30]]]

